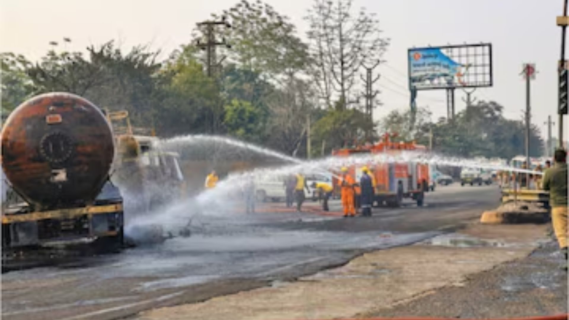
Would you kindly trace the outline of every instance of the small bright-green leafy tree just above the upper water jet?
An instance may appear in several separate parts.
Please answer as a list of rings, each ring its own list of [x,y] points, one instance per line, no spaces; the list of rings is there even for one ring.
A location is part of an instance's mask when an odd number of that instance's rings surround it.
[[[224,106],[228,133],[242,140],[261,142],[265,133],[266,110],[248,101],[233,99]]]

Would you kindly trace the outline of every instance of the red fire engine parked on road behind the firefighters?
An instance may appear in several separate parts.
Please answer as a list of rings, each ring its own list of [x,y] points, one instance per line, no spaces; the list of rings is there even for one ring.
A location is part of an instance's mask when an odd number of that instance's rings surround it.
[[[357,154],[381,154],[397,156],[406,150],[425,151],[426,147],[415,142],[392,142],[395,135],[385,134],[380,142],[352,148],[333,150],[332,155],[348,157]],[[348,167],[348,174],[359,181],[361,168],[367,166],[372,170],[376,180],[375,203],[378,206],[399,207],[403,198],[412,198],[418,206],[423,205],[424,192],[428,190],[428,164],[414,162],[374,162]],[[337,182],[335,182],[337,185]]]

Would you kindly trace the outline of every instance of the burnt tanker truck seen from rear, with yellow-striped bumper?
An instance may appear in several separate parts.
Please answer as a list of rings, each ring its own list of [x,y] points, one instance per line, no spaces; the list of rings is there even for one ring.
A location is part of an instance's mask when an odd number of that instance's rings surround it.
[[[122,196],[109,180],[112,129],[70,93],[23,102],[2,128],[2,249],[123,242]],[[6,185],[6,184],[5,184]]]

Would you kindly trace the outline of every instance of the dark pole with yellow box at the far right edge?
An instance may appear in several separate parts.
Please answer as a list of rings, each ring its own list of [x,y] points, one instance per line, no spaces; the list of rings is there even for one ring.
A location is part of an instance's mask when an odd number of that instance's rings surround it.
[[[567,66],[565,61],[565,32],[569,24],[567,17],[567,0],[563,1],[563,15],[557,17],[557,25],[561,27],[561,59],[559,60],[559,106],[558,106],[558,128],[559,128],[559,147],[563,148],[563,114],[567,114]]]

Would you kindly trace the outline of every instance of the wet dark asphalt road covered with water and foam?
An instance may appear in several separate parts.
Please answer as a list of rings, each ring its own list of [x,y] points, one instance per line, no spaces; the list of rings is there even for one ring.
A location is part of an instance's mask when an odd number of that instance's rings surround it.
[[[115,319],[292,280],[366,251],[453,231],[498,200],[496,186],[455,184],[428,193],[424,207],[407,201],[402,208],[374,208],[372,218],[296,212],[200,216],[188,238],[3,274],[2,318]],[[339,211],[339,202],[331,210]]]

